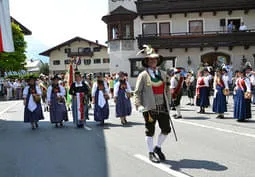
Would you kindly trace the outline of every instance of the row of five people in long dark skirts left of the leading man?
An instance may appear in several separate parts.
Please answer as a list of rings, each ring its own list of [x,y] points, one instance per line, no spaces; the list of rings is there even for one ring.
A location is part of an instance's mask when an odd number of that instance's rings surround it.
[[[66,106],[66,89],[59,84],[61,78],[54,76],[51,84],[41,87],[37,84],[36,78],[30,77],[27,86],[24,88],[24,122],[31,123],[32,129],[39,127],[39,120],[44,119],[41,98],[49,106],[50,121],[56,127],[63,127],[63,122],[68,121]],[[83,128],[89,114],[89,102],[94,104],[94,120],[99,125],[109,118],[110,91],[102,73],[96,74],[96,80],[90,87],[82,78],[80,72],[75,73],[75,81],[71,84],[69,94],[72,96],[72,116],[77,128]],[[119,73],[119,79],[114,84],[114,102],[116,103],[116,117],[121,123],[127,123],[126,116],[132,112],[130,102],[131,87],[124,72]],[[92,98],[90,100],[90,98]]]

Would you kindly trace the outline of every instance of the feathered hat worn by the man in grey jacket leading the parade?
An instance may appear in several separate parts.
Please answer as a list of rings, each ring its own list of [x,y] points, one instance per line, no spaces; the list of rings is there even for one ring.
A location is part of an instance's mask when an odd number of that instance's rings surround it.
[[[157,66],[160,66],[160,64],[163,62],[163,57],[155,52],[155,49],[153,49],[150,45],[143,45],[143,49],[140,50],[137,55],[140,53],[145,54],[145,58],[142,60],[142,65],[145,68],[148,68],[148,59],[149,58],[157,58]]]

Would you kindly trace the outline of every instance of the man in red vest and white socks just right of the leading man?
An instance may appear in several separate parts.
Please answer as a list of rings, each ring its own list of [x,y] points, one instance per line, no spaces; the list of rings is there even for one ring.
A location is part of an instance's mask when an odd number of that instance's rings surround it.
[[[176,114],[173,115],[175,119],[181,119],[181,97],[182,97],[182,86],[185,77],[185,71],[183,68],[174,68],[168,70],[167,74],[171,77],[170,79],[170,92],[171,102],[173,107],[176,109]],[[179,75],[179,76],[178,76]]]

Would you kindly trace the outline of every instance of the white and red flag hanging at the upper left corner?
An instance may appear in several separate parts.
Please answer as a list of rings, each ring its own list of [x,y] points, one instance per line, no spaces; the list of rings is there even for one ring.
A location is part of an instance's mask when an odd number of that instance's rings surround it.
[[[14,52],[9,0],[0,0],[0,52]]]

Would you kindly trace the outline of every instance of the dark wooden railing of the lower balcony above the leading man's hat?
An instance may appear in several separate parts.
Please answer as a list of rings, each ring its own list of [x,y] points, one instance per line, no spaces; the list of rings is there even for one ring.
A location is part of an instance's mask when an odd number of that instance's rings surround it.
[[[204,47],[235,47],[255,46],[255,29],[243,32],[205,31],[199,33],[169,33],[139,35],[138,46],[149,44],[155,49],[173,48],[204,48]]]

